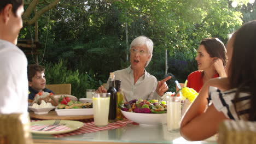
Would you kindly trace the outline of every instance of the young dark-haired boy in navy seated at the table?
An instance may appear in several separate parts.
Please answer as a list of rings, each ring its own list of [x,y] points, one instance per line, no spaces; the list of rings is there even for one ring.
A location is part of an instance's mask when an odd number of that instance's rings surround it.
[[[27,79],[28,79],[28,99],[34,99],[34,96],[38,92],[48,92],[53,93],[50,89],[45,88],[46,79],[44,76],[44,67],[41,65],[31,64],[27,67]]]

